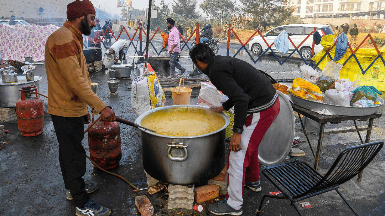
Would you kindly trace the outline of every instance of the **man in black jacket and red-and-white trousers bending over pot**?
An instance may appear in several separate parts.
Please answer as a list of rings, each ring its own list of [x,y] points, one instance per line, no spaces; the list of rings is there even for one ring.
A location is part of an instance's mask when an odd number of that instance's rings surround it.
[[[195,66],[208,75],[211,83],[229,100],[213,106],[214,112],[234,106],[233,136],[229,151],[229,184],[226,199],[210,204],[216,215],[241,215],[244,186],[261,191],[258,146],[280,112],[280,101],[270,80],[246,61],[215,55],[208,45],[199,43],[190,50]]]

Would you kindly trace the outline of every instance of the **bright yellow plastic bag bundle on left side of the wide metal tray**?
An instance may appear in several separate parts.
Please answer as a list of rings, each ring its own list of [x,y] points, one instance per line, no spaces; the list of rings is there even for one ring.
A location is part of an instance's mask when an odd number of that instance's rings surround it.
[[[320,87],[301,78],[293,80],[293,88],[289,89],[292,95],[306,100],[320,101],[323,100],[323,94]]]

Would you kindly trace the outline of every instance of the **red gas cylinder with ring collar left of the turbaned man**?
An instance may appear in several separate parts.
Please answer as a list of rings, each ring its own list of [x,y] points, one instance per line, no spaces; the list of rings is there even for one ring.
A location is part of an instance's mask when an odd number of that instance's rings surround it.
[[[43,101],[37,97],[37,87],[22,87],[19,91],[22,94],[22,98],[16,101],[19,131],[23,136],[36,136],[43,133],[44,108]],[[31,97],[31,93],[34,93],[35,97]]]

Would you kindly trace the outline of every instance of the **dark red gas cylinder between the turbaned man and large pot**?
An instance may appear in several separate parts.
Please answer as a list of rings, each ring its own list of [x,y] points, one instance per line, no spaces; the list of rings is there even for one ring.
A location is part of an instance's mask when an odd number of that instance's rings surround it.
[[[90,158],[101,168],[112,169],[122,158],[119,123],[99,120],[88,131]]]

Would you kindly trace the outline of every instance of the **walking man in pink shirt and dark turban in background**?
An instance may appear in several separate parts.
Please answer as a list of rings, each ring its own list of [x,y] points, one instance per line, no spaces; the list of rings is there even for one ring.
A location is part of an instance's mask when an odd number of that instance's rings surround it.
[[[180,75],[186,71],[186,68],[183,68],[179,62],[176,61],[176,57],[181,53],[180,39],[179,39],[179,30],[174,26],[175,20],[172,18],[167,18],[167,29],[170,30],[169,39],[168,39],[168,52],[170,53],[170,76],[168,78],[174,78],[175,68],[181,70]]]

